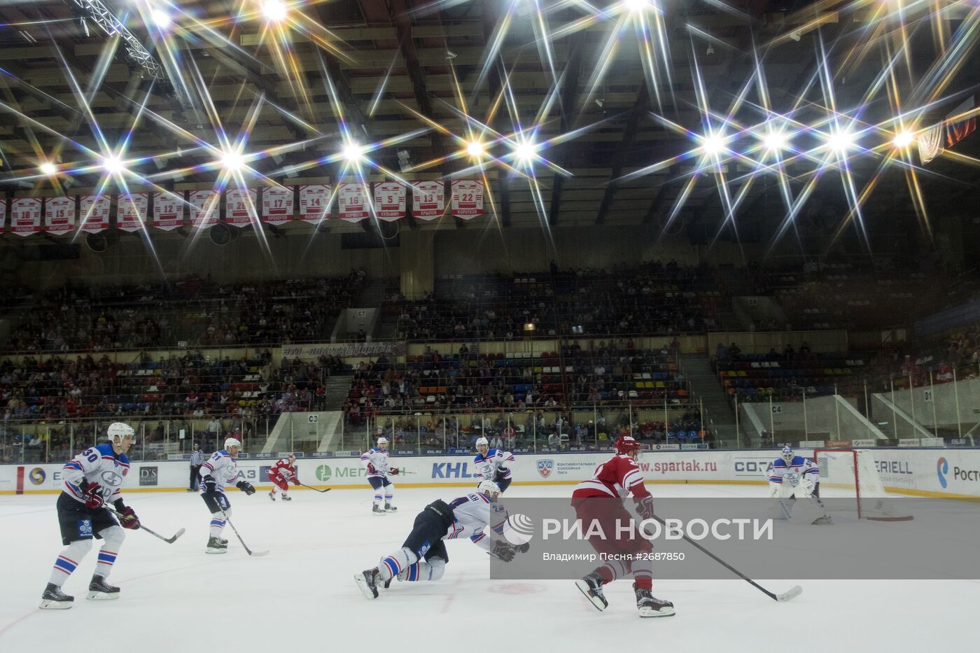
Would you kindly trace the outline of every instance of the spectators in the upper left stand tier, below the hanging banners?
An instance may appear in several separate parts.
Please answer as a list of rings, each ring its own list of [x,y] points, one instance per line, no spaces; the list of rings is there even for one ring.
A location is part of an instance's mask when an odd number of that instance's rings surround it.
[[[20,323],[6,351],[107,351],[176,347],[279,346],[322,340],[364,285],[364,271],[217,283],[188,278],[137,286],[69,284],[8,297]]]

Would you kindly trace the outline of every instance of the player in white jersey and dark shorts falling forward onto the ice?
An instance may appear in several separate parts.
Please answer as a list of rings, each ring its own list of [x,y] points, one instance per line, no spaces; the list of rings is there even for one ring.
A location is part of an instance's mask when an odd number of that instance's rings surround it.
[[[507,511],[497,503],[500,488],[483,480],[475,492],[449,503],[438,499],[425,506],[416,516],[412,532],[402,548],[381,558],[381,563],[354,577],[369,599],[377,598],[377,587],[387,588],[392,578],[399,580],[438,580],[446,571],[449,554],[447,539],[468,537],[477,546],[504,562],[525,553],[530,546],[513,546],[501,537],[507,523]],[[490,525],[489,534],[485,532]]]

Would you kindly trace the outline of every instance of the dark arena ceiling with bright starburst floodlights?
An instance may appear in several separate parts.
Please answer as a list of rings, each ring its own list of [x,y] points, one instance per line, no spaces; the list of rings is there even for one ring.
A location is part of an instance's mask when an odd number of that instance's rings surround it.
[[[778,232],[976,193],[969,141],[914,141],[976,91],[974,2],[105,0],[142,65],[99,5],[0,7],[15,194],[466,176],[488,217],[405,225]]]

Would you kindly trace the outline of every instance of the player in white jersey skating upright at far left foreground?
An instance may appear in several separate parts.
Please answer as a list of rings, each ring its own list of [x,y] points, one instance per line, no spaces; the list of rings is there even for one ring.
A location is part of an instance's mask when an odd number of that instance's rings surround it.
[[[58,497],[58,524],[62,543],[67,548],[55,561],[51,578],[41,595],[41,608],[65,610],[72,607],[74,597],[62,591],[62,584],[91,550],[93,537],[103,540],[103,544],[86,598],[120,597],[120,588],[110,585],[106,578],[109,578],[123,545],[123,528],[139,527],[136,513],[123,504],[120,492],[123,478],[129,472],[129,459],[125,454],[132,446],[133,430],[116,422],[109,425],[106,436],[108,442],[85,449],[62,469],[65,483]],[[107,502],[112,502],[120,514],[123,528],[105,507]]]

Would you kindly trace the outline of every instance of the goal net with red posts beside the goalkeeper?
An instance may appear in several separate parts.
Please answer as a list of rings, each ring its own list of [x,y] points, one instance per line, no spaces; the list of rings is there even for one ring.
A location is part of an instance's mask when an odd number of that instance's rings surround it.
[[[853,499],[831,502],[842,510],[858,512],[858,519],[878,522],[905,522],[912,519],[895,509],[885,498],[885,486],[878,476],[874,455],[867,449],[815,449],[813,458],[820,470],[820,497]],[[830,508],[832,509],[832,508]]]

